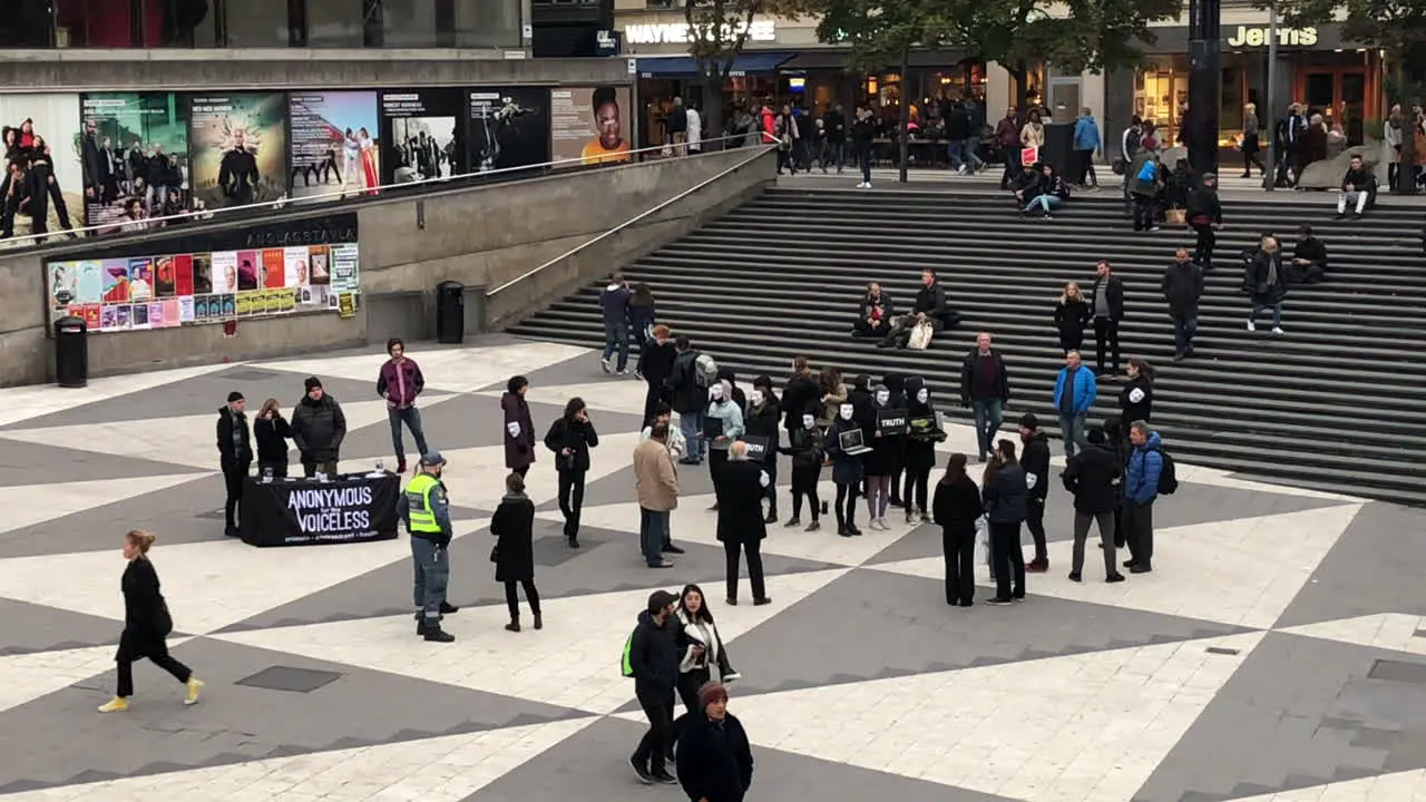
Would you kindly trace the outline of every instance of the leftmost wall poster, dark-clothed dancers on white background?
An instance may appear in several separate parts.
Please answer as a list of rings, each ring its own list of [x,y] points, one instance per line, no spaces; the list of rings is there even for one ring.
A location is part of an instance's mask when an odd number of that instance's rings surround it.
[[[36,244],[44,237],[19,237],[83,225],[80,96],[0,94],[0,247]]]

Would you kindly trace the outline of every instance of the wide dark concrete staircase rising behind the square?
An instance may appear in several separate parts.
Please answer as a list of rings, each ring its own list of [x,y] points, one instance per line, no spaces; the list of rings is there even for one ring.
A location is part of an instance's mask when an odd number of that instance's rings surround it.
[[[943,410],[957,395],[961,357],[977,331],[1007,355],[1012,398],[1055,418],[1061,365],[1052,304],[1065,281],[1092,283],[1098,258],[1125,283],[1125,355],[1158,368],[1154,425],[1175,457],[1283,484],[1426,504],[1426,257],[1423,213],[1382,205],[1365,221],[1333,221],[1332,198],[1225,201],[1216,270],[1201,305],[1198,355],[1171,362],[1172,330],[1159,278],[1185,230],[1135,234],[1117,191],[1077,196],[1055,220],[1020,220],[1000,193],[913,190],[769,191],[629,265],[659,318],[689,334],[746,381],[781,381],[791,358],[846,374],[918,372]],[[1291,243],[1312,224],[1330,251],[1323,284],[1296,287],[1286,334],[1245,331],[1248,297],[1236,255],[1275,231]],[[868,280],[903,308],[923,265],[938,270],[960,328],[930,351],[877,350],[848,335]],[[556,301],[515,334],[599,347],[596,288]],[[1092,351],[1092,334],[1087,338]],[[1117,410],[1101,382],[1095,418]],[[957,417],[967,417],[955,410]],[[1092,418],[1094,420],[1094,418]],[[1007,424],[1008,425],[1008,424]]]

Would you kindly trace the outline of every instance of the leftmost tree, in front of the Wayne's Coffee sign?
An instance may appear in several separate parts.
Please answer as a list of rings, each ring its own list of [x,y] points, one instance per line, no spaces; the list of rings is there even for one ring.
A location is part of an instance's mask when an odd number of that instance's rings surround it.
[[[703,86],[704,137],[723,136],[723,87],[743,47],[757,30],[757,17],[796,14],[793,0],[684,0],[689,54]]]

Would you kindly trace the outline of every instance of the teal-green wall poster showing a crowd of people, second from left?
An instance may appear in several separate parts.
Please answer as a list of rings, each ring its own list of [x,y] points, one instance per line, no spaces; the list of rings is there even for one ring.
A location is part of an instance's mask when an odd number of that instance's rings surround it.
[[[167,91],[90,93],[80,96],[80,118],[87,225],[107,234],[193,208],[184,98]]]

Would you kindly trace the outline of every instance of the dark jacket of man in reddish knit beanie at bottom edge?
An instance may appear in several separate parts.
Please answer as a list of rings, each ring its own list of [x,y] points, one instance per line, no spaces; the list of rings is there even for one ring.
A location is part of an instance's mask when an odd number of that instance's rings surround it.
[[[679,785],[693,802],[743,802],[753,785],[753,749],[732,714],[713,722],[703,711],[690,712],[677,759]]]

